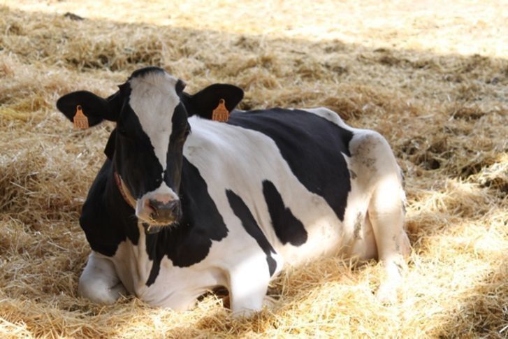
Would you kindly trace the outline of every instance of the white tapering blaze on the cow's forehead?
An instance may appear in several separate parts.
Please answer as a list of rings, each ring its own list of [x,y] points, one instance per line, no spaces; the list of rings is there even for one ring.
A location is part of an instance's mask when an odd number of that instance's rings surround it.
[[[141,128],[150,138],[163,171],[166,170],[171,119],[180,98],[176,94],[177,78],[166,72],[150,72],[129,81],[129,105],[138,116]]]

